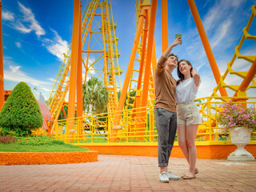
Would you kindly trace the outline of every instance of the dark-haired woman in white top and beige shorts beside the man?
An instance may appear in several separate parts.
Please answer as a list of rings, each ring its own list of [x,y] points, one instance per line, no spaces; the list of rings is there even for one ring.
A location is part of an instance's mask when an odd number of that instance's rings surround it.
[[[196,168],[197,150],[195,138],[198,132],[198,125],[202,124],[199,110],[194,102],[200,85],[200,75],[189,61],[182,59],[177,67],[178,82],[175,90],[175,100],[178,103],[178,145],[182,149],[190,169],[182,175],[184,179],[195,178],[198,174]]]

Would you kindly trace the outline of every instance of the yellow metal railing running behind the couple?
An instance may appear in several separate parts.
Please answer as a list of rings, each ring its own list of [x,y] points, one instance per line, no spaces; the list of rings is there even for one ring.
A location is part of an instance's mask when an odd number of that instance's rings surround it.
[[[231,99],[231,97],[226,98],[226,100]],[[247,107],[255,108],[256,97],[241,99],[246,99]],[[219,106],[222,105],[223,98],[198,98],[195,102],[202,118],[202,125],[198,128],[196,144],[231,144],[229,133],[224,132],[222,127],[218,126],[218,122],[215,123],[216,126],[212,126],[219,114]],[[86,145],[157,145],[158,132],[154,121],[154,106],[122,110],[122,124],[119,125],[122,126],[122,130],[114,132],[111,118],[116,118],[117,115],[120,115],[120,111],[114,111],[110,114],[90,114],[82,118],[56,121],[51,137],[64,142],[85,143]],[[174,145],[177,144],[177,142],[174,143]],[[256,132],[252,133],[250,144],[256,144]]]

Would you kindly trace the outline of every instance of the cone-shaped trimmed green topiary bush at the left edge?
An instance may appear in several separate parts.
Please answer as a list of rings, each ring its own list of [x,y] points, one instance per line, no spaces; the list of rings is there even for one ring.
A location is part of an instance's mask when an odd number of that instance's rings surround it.
[[[31,134],[31,130],[42,127],[42,114],[26,82],[14,87],[0,111],[0,126],[8,133],[14,130],[17,136]]]

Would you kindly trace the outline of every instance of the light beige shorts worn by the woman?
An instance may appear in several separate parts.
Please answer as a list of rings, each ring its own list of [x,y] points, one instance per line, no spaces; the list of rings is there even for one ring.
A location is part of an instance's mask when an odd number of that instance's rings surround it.
[[[178,103],[177,111],[177,124],[182,124],[186,126],[202,124],[202,119],[200,118],[198,106],[194,101]]]

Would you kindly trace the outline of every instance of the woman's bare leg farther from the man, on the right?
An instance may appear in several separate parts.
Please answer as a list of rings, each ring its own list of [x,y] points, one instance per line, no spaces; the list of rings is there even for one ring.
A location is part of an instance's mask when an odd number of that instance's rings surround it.
[[[186,146],[189,151],[189,172],[194,174],[195,164],[197,161],[197,149],[195,146],[195,138],[198,133],[198,125],[186,126]]]

